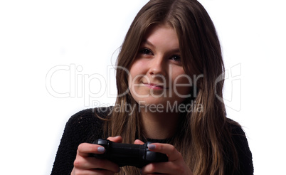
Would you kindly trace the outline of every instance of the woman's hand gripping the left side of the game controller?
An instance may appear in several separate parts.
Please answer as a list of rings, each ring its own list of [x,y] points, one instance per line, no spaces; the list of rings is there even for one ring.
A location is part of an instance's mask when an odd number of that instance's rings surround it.
[[[122,137],[108,137],[112,142],[122,142]],[[88,174],[88,175],[105,175],[115,174],[120,171],[120,167],[106,159],[97,159],[90,157],[90,154],[102,154],[105,148],[98,144],[83,143],[78,146],[78,152],[73,163],[71,175]]]

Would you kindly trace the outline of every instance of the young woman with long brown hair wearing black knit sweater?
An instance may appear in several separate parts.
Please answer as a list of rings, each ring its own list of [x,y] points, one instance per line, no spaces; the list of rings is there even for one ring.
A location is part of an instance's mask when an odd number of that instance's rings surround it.
[[[196,0],[151,0],[117,59],[114,107],[68,121],[52,174],[253,174],[245,134],[226,117],[223,59],[211,18]],[[115,137],[117,136],[117,137]],[[142,169],[90,157],[98,138],[143,144],[169,161]]]

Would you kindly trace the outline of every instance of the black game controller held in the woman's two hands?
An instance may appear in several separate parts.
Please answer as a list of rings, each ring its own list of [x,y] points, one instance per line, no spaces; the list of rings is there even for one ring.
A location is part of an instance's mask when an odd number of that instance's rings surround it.
[[[152,162],[168,161],[166,154],[149,151],[148,145],[152,144],[152,142],[146,142],[145,144],[120,144],[107,139],[97,139],[92,144],[99,144],[105,147],[103,154],[92,154],[92,156],[108,159],[119,166],[142,168]]]

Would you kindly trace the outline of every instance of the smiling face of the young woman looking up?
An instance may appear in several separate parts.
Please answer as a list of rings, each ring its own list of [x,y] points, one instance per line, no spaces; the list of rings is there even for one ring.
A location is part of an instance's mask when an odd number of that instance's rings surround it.
[[[157,25],[149,29],[129,70],[128,84],[140,105],[173,107],[189,97],[191,78],[181,65],[174,28]]]

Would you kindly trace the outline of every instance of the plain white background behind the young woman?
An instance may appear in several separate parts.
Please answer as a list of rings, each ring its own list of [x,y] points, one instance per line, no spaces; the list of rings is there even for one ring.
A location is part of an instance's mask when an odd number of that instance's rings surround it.
[[[0,1],[1,174],[50,174],[68,118],[113,105],[102,91],[108,82],[116,92],[107,66],[146,2]],[[285,3],[201,2],[223,47],[228,117],[245,129],[255,174],[286,174]],[[56,97],[47,83],[70,97]],[[89,92],[105,93],[89,99]]]

